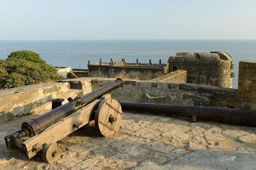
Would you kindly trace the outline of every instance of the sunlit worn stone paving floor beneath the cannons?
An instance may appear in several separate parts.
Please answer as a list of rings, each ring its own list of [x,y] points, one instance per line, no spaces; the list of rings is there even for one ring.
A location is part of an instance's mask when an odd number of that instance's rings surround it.
[[[4,136],[23,121],[0,123],[0,169],[256,169],[256,128],[123,112],[117,134],[99,136],[94,121],[60,140],[52,164],[7,150]]]

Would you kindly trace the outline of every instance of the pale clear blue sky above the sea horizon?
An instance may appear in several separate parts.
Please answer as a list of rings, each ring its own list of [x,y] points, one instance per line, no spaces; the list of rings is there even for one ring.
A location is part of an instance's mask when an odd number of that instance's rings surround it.
[[[0,0],[0,40],[256,39],[255,0]]]

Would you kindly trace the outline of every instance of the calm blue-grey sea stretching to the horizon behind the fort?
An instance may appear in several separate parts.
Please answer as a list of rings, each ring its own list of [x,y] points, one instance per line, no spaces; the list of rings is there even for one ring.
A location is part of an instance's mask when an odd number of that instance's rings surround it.
[[[256,40],[232,39],[164,39],[164,40],[0,40],[0,59],[12,51],[32,50],[53,66],[87,69],[88,60],[110,62],[125,58],[127,62],[147,63],[149,59],[167,63],[177,52],[225,51],[234,63],[233,88],[238,84],[238,63],[256,59]]]

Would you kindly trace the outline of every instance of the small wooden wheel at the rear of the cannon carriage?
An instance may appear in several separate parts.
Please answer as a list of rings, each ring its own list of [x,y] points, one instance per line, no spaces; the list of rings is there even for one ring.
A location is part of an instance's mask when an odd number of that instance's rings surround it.
[[[42,158],[45,162],[52,163],[60,158],[62,152],[57,143],[46,144],[42,149]]]

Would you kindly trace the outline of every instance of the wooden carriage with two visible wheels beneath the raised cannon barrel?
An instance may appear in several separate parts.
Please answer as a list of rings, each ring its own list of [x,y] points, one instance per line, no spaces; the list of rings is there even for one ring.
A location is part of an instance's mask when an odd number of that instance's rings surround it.
[[[92,120],[98,127],[102,136],[109,136],[117,132],[122,121],[122,109],[120,104],[105,94],[99,100],[57,121],[44,131],[33,137],[17,138],[21,129],[4,137],[8,150],[16,147],[23,148],[30,159],[34,155],[41,155],[43,160],[49,163],[56,161],[61,156],[61,150],[57,141],[83,127]]]

